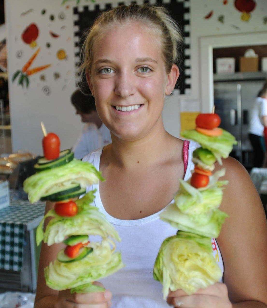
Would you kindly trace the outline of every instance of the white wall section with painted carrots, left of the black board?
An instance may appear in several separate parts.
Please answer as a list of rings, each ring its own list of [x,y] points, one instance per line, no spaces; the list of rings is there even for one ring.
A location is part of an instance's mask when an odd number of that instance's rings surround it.
[[[13,151],[29,150],[35,154],[42,154],[40,121],[44,122],[48,132],[55,132],[60,136],[61,149],[73,146],[82,129],[79,116],[75,115],[70,102],[71,93],[75,90],[72,12],[71,8],[67,10],[60,3],[60,0],[6,1]],[[29,9],[34,11],[21,16],[21,13]],[[46,9],[46,14],[41,14],[42,9]],[[66,15],[64,20],[58,18],[58,13],[61,11]],[[50,14],[55,16],[53,22],[49,20]],[[22,31],[32,22],[39,27],[36,42],[41,50],[30,68],[50,63],[52,65],[42,72],[29,76],[30,85],[26,89],[18,85],[18,80],[12,83],[11,78],[16,70],[22,69],[38,48],[32,49],[21,40]],[[65,29],[61,30],[62,26],[66,26]],[[60,34],[60,37],[52,38],[49,30]],[[47,42],[51,43],[50,48],[46,47]],[[60,48],[66,51],[66,60],[56,58],[56,52]],[[17,59],[16,52],[19,50],[22,51],[22,57]],[[60,78],[56,80],[55,72],[60,74]],[[42,74],[45,75],[46,81],[40,80]],[[42,91],[44,86],[50,87],[51,95],[45,95]]]

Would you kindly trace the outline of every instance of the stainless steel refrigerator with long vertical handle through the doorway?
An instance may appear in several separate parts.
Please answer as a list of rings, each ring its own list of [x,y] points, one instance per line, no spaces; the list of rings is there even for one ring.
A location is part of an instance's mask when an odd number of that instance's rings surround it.
[[[253,150],[248,138],[249,112],[258,92],[267,79],[267,72],[214,74],[215,112],[220,115],[220,127],[233,134],[238,144],[230,154],[250,169]]]

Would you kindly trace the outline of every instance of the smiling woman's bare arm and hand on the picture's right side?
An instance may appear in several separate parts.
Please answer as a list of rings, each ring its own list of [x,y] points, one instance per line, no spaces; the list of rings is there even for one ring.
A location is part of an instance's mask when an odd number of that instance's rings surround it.
[[[196,294],[170,292],[175,307],[267,308],[267,223],[257,191],[245,168],[229,157],[220,209],[229,215],[217,243],[224,261],[224,284],[216,283]],[[220,170],[222,166],[217,166]],[[216,170],[215,170],[216,171]]]

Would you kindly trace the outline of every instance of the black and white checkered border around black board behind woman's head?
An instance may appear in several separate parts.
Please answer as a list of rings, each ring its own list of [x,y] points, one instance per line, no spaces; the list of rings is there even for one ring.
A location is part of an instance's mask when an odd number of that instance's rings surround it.
[[[184,2],[184,8],[187,10],[187,12],[184,14],[184,83],[185,83],[185,93],[184,94],[190,94],[191,93],[191,39],[190,39],[190,0],[176,0],[177,2]],[[156,4],[156,0],[136,0],[137,4],[144,4],[144,2],[149,4]],[[163,0],[163,3],[169,3],[168,0]],[[86,6],[77,6],[78,12],[83,12],[84,10],[88,11],[95,11],[96,8],[99,7],[100,10],[104,10],[107,8],[107,6],[110,6],[111,8],[117,7],[121,4],[130,4],[129,1],[119,1],[119,2],[100,2],[99,4],[91,3]],[[75,22],[79,19],[78,14],[75,14],[75,10],[73,13],[73,31],[74,31],[74,60],[75,60],[75,67],[79,67],[80,63],[80,47],[79,47],[79,26],[75,25]],[[76,82],[79,83],[80,81],[80,74],[79,72],[76,73]],[[178,90],[179,91],[179,90]]]

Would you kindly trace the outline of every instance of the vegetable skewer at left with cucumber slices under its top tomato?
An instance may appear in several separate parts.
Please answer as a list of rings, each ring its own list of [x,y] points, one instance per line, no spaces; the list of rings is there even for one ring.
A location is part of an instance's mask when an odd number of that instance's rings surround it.
[[[121,254],[114,252],[113,240],[120,241],[118,233],[91,205],[95,190],[86,193],[87,186],[104,179],[93,165],[75,160],[71,150],[59,152],[58,136],[47,133],[42,122],[41,127],[44,157],[38,159],[34,165],[37,173],[24,181],[23,188],[31,203],[56,202],[37,228],[37,245],[42,241],[47,245],[66,245],[44,270],[47,286],[54,290],[71,289],[71,293],[103,291],[92,282],[124,266]],[[81,195],[84,196],[76,200]],[[53,218],[43,231],[47,217]],[[88,241],[89,235],[98,235],[102,241]]]

